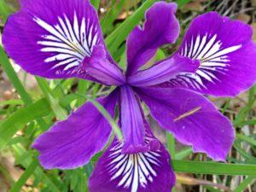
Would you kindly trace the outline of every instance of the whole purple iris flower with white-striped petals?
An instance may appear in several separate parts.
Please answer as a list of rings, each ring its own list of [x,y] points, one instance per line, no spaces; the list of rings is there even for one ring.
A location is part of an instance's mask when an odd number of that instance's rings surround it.
[[[97,99],[113,117],[119,106],[124,141],[117,139],[96,164],[91,192],[168,192],[175,183],[170,155],[153,136],[144,102],[159,125],[195,152],[225,160],[232,125],[201,94],[236,96],[256,79],[256,46],[250,26],[215,12],[192,21],[171,57],[141,69],[163,44],[179,35],[175,3],[154,3],[143,27],[127,39],[125,73],[108,53],[96,10],[88,0],[20,0],[4,27],[3,44],[26,72],[49,79],[79,78],[116,85]],[[47,169],[72,169],[108,143],[111,126],[86,102],[33,144]]]

